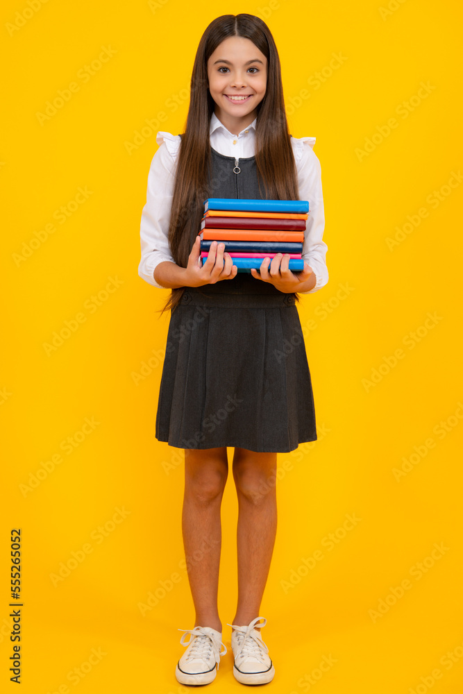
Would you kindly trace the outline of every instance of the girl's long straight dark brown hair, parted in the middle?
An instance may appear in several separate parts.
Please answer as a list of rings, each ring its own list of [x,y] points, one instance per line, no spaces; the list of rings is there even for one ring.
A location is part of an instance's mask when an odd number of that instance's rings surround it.
[[[181,267],[187,267],[194,239],[201,228],[204,201],[210,197],[209,128],[216,103],[209,91],[208,60],[217,46],[230,36],[251,40],[267,58],[267,88],[256,107],[255,163],[259,188],[262,180],[267,199],[298,200],[297,170],[286,119],[280,58],[273,36],[267,24],[255,15],[217,17],[205,29],[196,51],[190,108],[177,158],[168,238],[171,254]],[[171,289],[161,314],[165,310],[173,311],[184,291],[185,287]],[[298,298],[296,294],[297,301]]]

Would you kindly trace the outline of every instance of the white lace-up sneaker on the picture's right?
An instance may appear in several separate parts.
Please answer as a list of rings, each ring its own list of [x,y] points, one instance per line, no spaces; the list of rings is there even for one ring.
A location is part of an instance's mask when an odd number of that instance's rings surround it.
[[[229,624],[229,627],[236,629],[232,632],[231,644],[235,665],[233,675],[242,684],[265,684],[271,682],[275,676],[275,668],[268,655],[269,649],[262,641],[260,629],[255,629],[254,625],[260,619],[264,620],[262,626],[267,624],[264,617],[256,617],[251,624],[238,627]]]

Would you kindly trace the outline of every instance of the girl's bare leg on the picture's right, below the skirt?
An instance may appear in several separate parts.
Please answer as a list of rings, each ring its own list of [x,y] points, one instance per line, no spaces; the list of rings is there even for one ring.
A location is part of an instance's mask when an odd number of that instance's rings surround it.
[[[233,624],[259,616],[276,538],[276,453],[235,448],[238,497],[238,604]]]

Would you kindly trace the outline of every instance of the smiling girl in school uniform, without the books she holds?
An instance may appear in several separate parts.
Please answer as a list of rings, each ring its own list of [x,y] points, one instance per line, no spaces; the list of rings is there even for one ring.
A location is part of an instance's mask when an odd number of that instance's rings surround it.
[[[182,684],[212,682],[227,652],[217,611],[227,446],[239,505],[233,674],[262,684],[275,672],[259,611],[276,536],[276,454],[317,439],[296,307],[298,294],[328,282],[314,141],[288,133],[267,25],[247,14],[214,19],[196,52],[185,132],[157,135],[141,223],[139,274],[171,289],[155,436],[185,449],[182,528],[196,622],[180,629]],[[237,273],[217,242],[201,264],[208,197],[308,200],[304,270],[292,273],[278,253],[260,271]]]

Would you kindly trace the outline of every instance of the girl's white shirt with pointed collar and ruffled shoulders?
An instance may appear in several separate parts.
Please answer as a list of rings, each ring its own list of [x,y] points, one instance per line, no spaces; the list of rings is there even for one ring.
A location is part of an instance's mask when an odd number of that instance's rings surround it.
[[[215,113],[210,119],[210,146],[227,157],[252,157],[255,153],[255,124],[244,128],[241,133],[230,133],[221,124]],[[180,135],[159,131],[156,142],[160,145],[151,160],[146,189],[146,205],[142,210],[140,224],[140,242],[142,258],[138,274],[153,287],[165,289],[154,279],[153,273],[158,263],[169,260],[175,262],[171,255],[168,241],[169,221],[171,214],[172,194],[176,159],[180,149]],[[301,294],[312,294],[328,282],[326,268],[326,251],[328,246],[323,242],[325,215],[321,189],[321,167],[313,151],[315,137],[292,137],[291,144],[298,171],[299,199],[309,201],[309,217],[306,221],[302,257],[307,260],[317,278],[309,291]],[[263,259],[262,259],[263,260]],[[230,280],[233,282],[233,280]],[[255,280],[262,282],[262,280]]]

